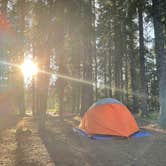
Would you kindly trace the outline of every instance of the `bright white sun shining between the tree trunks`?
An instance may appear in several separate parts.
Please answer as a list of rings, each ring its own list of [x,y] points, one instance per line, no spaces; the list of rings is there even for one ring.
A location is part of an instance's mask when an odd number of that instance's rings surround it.
[[[38,67],[37,64],[34,63],[32,60],[27,59],[21,65],[21,71],[24,75],[24,78],[31,78],[38,73]]]

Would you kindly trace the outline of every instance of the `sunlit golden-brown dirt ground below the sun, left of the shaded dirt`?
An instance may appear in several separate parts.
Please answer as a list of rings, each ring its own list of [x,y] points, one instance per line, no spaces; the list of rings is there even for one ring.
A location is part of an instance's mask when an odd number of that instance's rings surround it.
[[[29,134],[18,129],[28,129]],[[0,117],[0,166],[54,166],[32,117]]]

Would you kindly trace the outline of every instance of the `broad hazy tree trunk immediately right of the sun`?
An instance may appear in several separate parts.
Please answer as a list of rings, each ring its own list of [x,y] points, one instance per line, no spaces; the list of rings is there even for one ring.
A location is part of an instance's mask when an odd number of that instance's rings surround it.
[[[44,6],[43,2],[38,1],[36,5],[41,5],[41,8],[36,6],[36,21],[38,23],[37,35],[33,44],[35,44],[36,60],[40,71],[36,76],[36,115],[38,120],[39,130],[45,129],[47,98],[49,86],[49,69],[50,69],[50,55],[51,55],[51,17],[48,6]],[[46,26],[47,25],[47,26]],[[48,28],[49,27],[49,28]],[[42,71],[42,72],[41,72]]]

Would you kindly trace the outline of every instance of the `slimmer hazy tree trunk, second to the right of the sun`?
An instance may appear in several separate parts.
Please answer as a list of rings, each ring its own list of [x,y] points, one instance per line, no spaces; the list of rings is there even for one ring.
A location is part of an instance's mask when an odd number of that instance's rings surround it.
[[[58,77],[57,80],[57,94],[58,94],[58,101],[59,101],[59,115],[61,120],[63,120],[63,114],[65,111],[65,104],[64,104],[64,98],[65,98],[65,87],[66,87],[66,80],[63,76],[67,75],[67,57],[65,52],[65,34],[67,33],[66,27],[67,19],[66,19],[66,13],[65,9],[67,8],[67,1],[66,0],[59,0],[57,1],[57,22],[56,22],[56,53],[57,53],[57,64],[58,64],[58,74],[62,75],[62,77]],[[66,21],[66,22],[65,22]],[[66,24],[65,24],[66,23]],[[65,27],[66,26],[66,27]]]

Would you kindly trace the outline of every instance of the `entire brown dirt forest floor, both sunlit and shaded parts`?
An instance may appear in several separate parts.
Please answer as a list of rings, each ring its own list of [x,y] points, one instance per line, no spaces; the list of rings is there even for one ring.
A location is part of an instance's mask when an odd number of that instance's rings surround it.
[[[6,122],[3,126],[0,121],[0,166],[166,165],[166,131],[153,122],[138,119],[140,127],[152,136],[112,140],[92,140],[74,133],[79,120],[73,115],[64,121],[48,116],[42,135],[31,117],[11,117]],[[20,124],[32,131],[21,141],[15,136]]]

